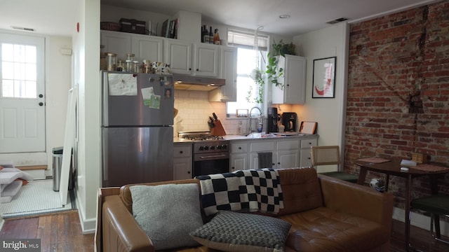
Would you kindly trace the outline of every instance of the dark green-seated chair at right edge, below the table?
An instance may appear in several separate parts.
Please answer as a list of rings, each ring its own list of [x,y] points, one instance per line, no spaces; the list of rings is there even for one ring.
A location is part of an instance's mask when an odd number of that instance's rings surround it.
[[[419,209],[430,214],[430,232],[437,241],[449,244],[448,239],[441,239],[440,216],[449,217],[449,195],[436,194],[417,198],[410,202],[411,209]],[[435,223],[435,234],[434,234]]]

